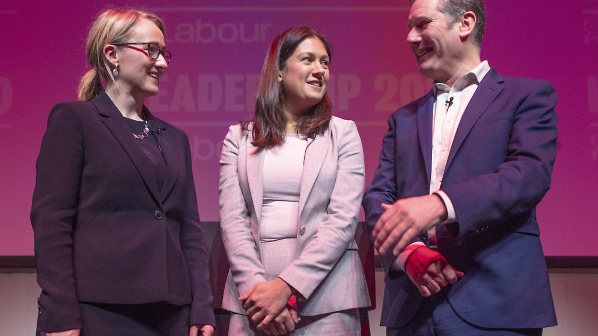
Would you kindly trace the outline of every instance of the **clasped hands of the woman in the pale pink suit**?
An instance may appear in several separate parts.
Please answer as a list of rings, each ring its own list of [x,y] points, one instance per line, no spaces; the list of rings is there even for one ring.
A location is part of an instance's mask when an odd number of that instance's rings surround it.
[[[294,289],[284,280],[276,278],[258,282],[239,300],[243,302],[247,316],[257,323],[257,328],[266,334],[286,334],[295,330],[298,323],[297,310],[288,305]]]

